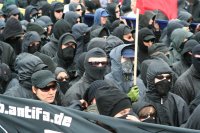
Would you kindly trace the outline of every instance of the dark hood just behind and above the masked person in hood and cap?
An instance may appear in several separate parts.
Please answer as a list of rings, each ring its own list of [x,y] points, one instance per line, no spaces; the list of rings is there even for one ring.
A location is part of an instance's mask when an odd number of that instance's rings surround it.
[[[68,22],[63,19],[58,20],[53,28],[53,34],[57,40],[65,34],[71,32],[71,26]]]

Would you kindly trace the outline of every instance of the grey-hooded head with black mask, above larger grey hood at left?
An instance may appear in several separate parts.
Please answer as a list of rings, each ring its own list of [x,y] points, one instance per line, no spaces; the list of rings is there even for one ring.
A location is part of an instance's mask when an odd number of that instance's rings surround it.
[[[31,45],[32,43],[34,42],[39,42],[38,45]],[[22,41],[22,52],[27,52],[27,53],[35,53],[37,51],[40,51],[40,48],[41,48],[41,38],[40,38],[40,35],[35,32],[35,31],[30,31],[30,32],[27,32],[25,35],[24,35],[24,39]]]

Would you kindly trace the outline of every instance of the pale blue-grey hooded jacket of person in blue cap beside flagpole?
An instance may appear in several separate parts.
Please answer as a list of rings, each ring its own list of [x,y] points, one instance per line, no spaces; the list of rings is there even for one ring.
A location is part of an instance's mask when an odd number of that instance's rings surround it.
[[[123,44],[117,46],[110,52],[110,60],[111,60],[111,72],[105,76],[106,79],[113,81],[117,84],[124,93],[128,93],[133,87],[133,70],[130,79],[126,79],[126,73],[123,71],[123,67],[121,64],[121,56],[122,50],[126,47],[132,47],[131,44]],[[132,66],[133,68],[133,66]],[[137,86],[139,88],[139,96],[143,96],[146,92],[146,87],[141,79],[136,79]]]

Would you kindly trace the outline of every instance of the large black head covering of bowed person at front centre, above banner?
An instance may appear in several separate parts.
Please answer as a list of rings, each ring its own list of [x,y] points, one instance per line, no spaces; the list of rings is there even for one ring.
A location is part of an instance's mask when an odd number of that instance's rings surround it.
[[[120,111],[132,107],[129,97],[114,86],[97,89],[95,98],[101,115],[113,117]]]

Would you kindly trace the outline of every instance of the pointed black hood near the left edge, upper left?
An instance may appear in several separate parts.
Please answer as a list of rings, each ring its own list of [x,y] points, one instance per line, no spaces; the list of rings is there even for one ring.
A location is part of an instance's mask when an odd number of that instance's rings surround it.
[[[6,22],[6,26],[3,31],[4,40],[22,34],[23,30],[20,21],[17,20],[16,18],[9,18]]]

